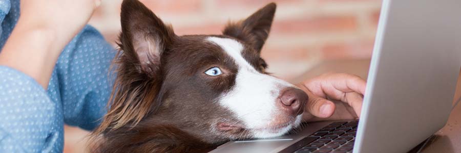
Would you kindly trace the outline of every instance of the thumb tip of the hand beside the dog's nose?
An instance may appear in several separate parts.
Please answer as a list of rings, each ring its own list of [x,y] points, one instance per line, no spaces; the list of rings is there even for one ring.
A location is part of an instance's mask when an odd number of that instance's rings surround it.
[[[309,96],[309,101],[306,105],[308,113],[315,117],[328,118],[334,113],[336,106],[330,100],[315,95]]]

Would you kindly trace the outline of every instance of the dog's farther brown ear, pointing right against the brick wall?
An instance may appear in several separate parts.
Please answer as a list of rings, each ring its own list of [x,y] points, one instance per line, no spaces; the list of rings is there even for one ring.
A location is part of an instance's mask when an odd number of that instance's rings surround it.
[[[229,23],[223,34],[248,43],[259,53],[269,36],[276,8],[275,3],[270,3],[242,21]]]

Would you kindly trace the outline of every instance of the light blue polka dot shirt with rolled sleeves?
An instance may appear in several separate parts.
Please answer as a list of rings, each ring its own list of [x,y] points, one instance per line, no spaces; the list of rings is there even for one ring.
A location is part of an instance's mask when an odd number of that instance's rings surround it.
[[[19,17],[19,0],[0,0],[0,47]],[[28,75],[0,66],[0,152],[62,152],[64,124],[93,130],[113,86],[113,47],[85,27],[62,50],[48,90]]]

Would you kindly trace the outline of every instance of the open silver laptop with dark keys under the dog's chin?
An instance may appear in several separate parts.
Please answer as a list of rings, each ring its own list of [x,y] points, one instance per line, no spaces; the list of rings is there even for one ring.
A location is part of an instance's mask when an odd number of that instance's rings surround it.
[[[407,152],[441,129],[461,67],[461,1],[385,0],[359,120],[306,123],[211,152]]]

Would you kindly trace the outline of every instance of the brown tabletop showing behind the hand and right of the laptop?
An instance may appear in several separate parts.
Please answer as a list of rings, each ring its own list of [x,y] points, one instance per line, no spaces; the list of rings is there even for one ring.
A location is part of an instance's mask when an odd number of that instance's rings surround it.
[[[370,60],[327,61],[315,66],[313,69],[301,75],[301,77],[291,80],[290,82],[298,83],[327,72],[352,73],[366,79],[369,65]],[[459,79],[461,79],[461,73]],[[461,81],[458,81],[453,104],[460,96]],[[428,140],[422,152],[461,152],[461,104],[453,108],[447,124]]]

